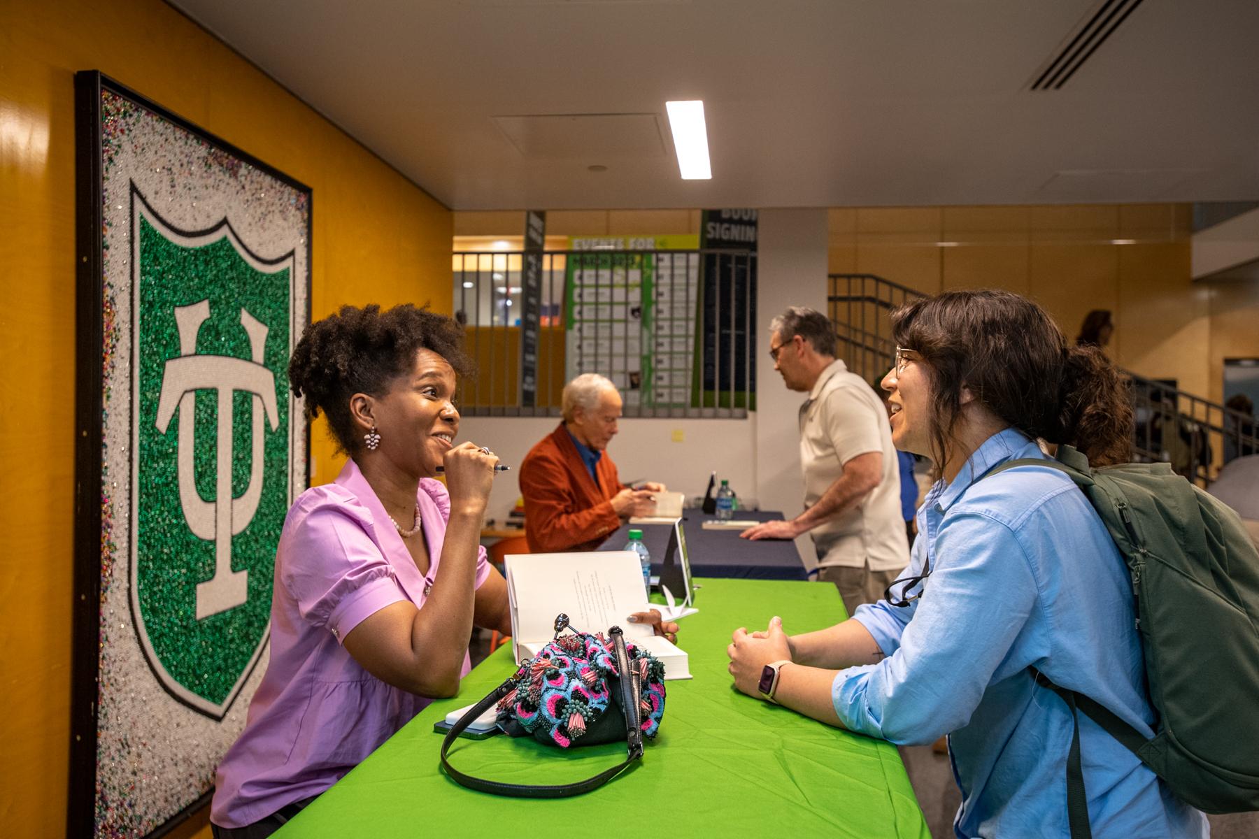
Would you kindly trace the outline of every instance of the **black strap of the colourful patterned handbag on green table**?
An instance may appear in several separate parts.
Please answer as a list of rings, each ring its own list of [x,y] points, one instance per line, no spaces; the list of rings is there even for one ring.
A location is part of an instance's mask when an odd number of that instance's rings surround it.
[[[590,790],[603,786],[624,771],[630,764],[642,757],[642,723],[638,716],[638,674],[631,674],[630,655],[626,652],[626,642],[621,633],[621,628],[613,626],[608,634],[612,635],[612,645],[617,654],[617,669],[621,673],[621,696],[626,717],[627,756],[624,761],[612,769],[603,770],[598,775],[590,776],[584,781],[577,781],[574,784],[506,784],[502,781],[491,781],[483,777],[476,777],[475,775],[467,775],[451,766],[449,761],[446,760],[446,752],[451,747],[451,743],[453,743],[454,740],[463,733],[463,730],[467,728],[473,720],[488,711],[491,706],[499,702],[499,699],[511,693],[511,688],[515,684],[515,677],[512,677],[491,691],[483,699],[468,708],[467,713],[460,717],[460,721],[451,726],[451,730],[446,732],[446,738],[442,741],[442,769],[446,770],[446,774],[454,779],[454,781],[461,786],[466,786],[470,790],[478,790],[481,792],[490,792],[491,795],[506,795],[516,799],[564,799],[570,795],[582,795],[583,792],[589,792]]]

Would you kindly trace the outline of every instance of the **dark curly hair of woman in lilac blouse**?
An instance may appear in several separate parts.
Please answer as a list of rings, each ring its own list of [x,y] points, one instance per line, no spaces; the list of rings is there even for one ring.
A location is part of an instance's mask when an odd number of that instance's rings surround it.
[[[463,328],[453,319],[410,303],[384,312],[375,303],[342,306],[306,327],[288,361],[288,384],[306,397],[306,419],[322,410],[337,448],[353,454],[361,440],[350,396],[383,396],[398,376],[410,374],[419,350],[442,356],[461,377],[472,375]]]

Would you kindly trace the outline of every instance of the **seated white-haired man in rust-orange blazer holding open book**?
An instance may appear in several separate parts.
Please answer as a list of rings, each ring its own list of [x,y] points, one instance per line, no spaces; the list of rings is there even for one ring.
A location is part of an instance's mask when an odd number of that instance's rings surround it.
[[[564,421],[520,464],[525,538],[534,553],[593,551],[623,518],[650,516],[665,484],[622,487],[608,443],[621,419],[616,385],[593,372],[564,385]]]

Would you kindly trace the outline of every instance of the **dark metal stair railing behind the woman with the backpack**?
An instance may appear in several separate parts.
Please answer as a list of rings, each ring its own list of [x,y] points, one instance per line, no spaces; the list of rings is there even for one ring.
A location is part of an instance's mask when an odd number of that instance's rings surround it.
[[[827,286],[827,314],[835,325],[840,357],[866,381],[881,379],[896,352],[890,313],[925,294],[875,274],[830,274]],[[1253,416],[1171,382],[1123,372],[1137,420],[1134,460],[1171,463],[1177,473],[1206,487],[1226,462],[1259,454]]]

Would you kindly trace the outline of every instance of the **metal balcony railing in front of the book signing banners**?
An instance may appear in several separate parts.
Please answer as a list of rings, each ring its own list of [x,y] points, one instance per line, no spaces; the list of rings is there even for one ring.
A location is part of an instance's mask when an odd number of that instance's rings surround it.
[[[460,410],[559,416],[564,384],[598,372],[621,391],[624,416],[745,416],[755,409],[755,258],[720,249],[456,252],[454,312],[477,366],[461,385]],[[525,297],[529,259],[540,269],[536,301]]]

